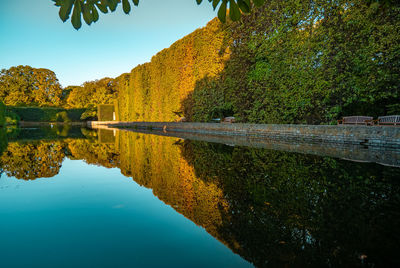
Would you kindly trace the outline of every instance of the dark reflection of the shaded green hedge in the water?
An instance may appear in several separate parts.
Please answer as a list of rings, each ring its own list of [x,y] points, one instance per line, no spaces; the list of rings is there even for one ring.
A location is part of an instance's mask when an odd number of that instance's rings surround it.
[[[257,266],[357,265],[360,254],[397,261],[399,169],[203,142],[182,148],[229,203],[219,235]]]

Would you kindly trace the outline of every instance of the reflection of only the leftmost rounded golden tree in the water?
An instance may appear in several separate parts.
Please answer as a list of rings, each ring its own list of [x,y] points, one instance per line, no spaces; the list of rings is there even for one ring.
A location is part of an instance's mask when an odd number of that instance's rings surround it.
[[[9,143],[0,162],[7,176],[33,180],[58,174],[65,144],[56,142]]]

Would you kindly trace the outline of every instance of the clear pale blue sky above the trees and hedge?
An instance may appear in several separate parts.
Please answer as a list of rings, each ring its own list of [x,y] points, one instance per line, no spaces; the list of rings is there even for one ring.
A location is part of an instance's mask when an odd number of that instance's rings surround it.
[[[63,86],[129,72],[215,17],[208,1],[140,0],[76,31],[51,0],[0,0],[0,69],[53,70]],[[82,19],[83,21],[83,19]]]

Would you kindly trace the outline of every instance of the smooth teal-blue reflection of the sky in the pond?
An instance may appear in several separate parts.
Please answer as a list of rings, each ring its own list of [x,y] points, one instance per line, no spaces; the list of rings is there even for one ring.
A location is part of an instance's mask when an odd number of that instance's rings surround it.
[[[65,159],[53,178],[0,179],[3,267],[240,267],[238,255],[124,177]]]

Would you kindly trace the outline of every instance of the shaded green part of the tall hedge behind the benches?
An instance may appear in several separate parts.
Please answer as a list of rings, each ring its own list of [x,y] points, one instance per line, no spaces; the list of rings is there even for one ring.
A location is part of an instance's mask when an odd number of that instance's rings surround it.
[[[226,106],[252,123],[400,113],[398,3],[268,1],[226,29],[224,71],[197,81],[187,101],[196,121]]]

